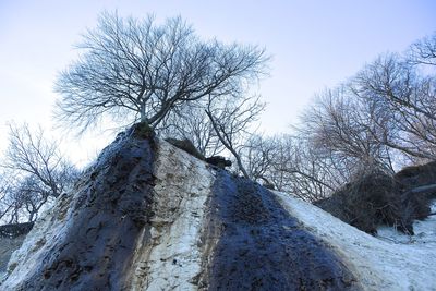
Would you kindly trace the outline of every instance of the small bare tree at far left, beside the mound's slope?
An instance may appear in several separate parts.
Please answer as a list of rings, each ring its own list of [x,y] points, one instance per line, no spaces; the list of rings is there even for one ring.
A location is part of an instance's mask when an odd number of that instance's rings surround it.
[[[48,142],[41,129],[33,131],[27,124],[10,124],[9,147],[1,166],[8,177],[1,191],[2,215],[10,217],[10,223],[23,216],[34,221],[41,207],[65,193],[78,173],[61,155],[56,141]]]

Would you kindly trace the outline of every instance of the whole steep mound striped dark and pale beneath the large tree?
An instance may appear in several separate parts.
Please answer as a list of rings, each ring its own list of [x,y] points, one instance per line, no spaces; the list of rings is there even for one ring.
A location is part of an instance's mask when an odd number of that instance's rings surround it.
[[[266,189],[120,134],[12,256],[1,290],[355,290]]]

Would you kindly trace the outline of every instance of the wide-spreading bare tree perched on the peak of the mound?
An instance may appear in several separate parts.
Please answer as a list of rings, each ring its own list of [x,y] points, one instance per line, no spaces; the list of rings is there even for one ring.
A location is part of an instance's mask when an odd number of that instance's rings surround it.
[[[180,17],[158,25],[109,13],[78,48],[57,82],[57,117],[82,129],[106,114],[155,126],[186,102],[242,93],[268,59],[257,47],[201,40]]]

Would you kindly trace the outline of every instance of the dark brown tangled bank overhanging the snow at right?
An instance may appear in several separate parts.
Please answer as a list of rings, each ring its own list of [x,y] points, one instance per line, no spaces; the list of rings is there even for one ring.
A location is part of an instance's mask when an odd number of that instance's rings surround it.
[[[436,193],[416,190],[435,182],[436,162],[409,167],[393,177],[373,169],[315,205],[367,233],[388,225],[413,234],[413,220],[431,214],[429,201]]]

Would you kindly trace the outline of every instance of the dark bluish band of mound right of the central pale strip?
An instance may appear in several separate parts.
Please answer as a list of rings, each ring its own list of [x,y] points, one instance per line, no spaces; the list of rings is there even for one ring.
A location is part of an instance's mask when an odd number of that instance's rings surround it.
[[[226,171],[217,174],[204,234],[202,290],[359,289],[331,248],[268,190]]]

